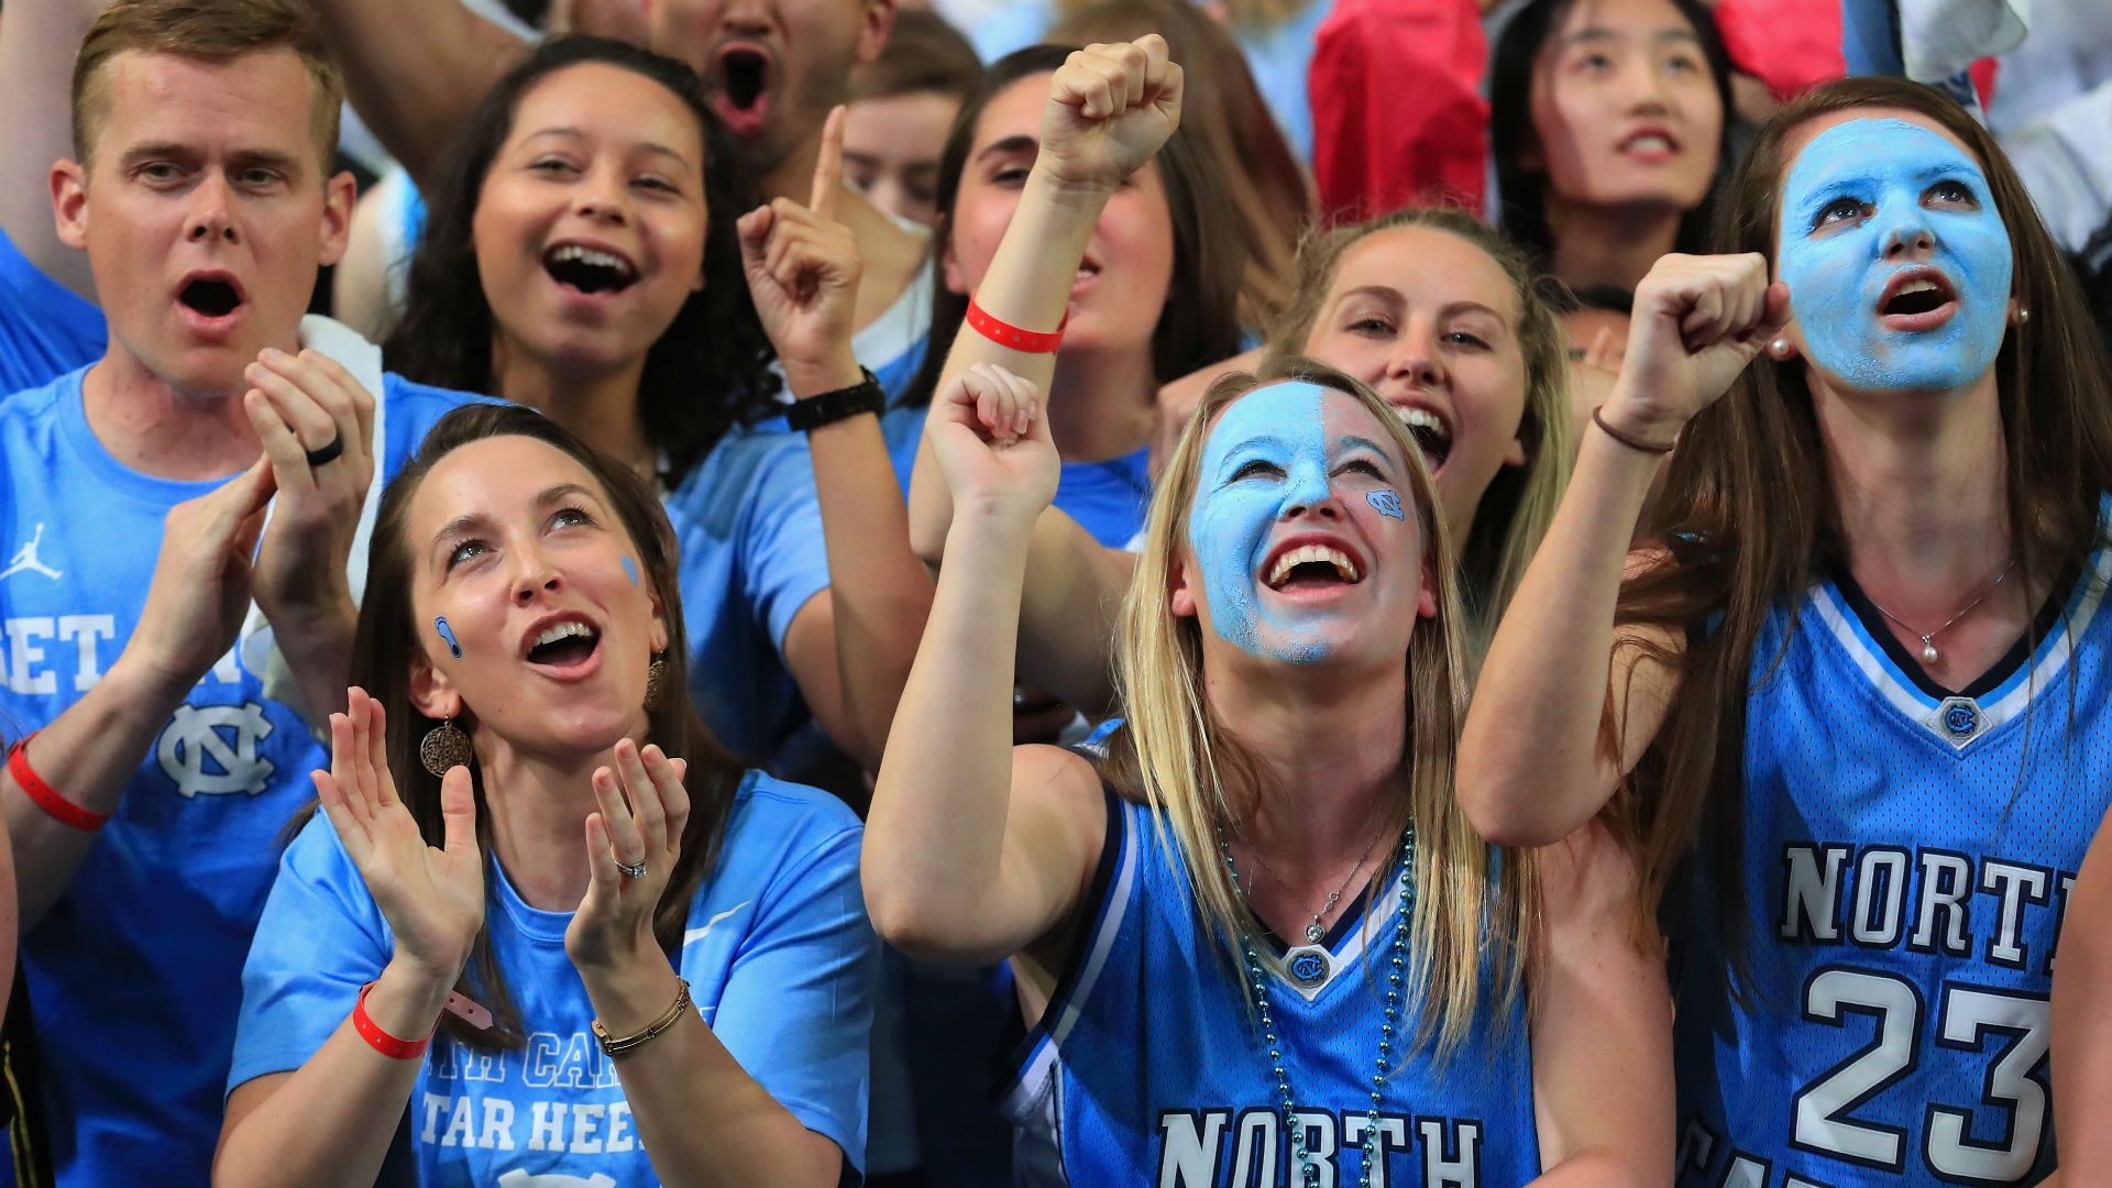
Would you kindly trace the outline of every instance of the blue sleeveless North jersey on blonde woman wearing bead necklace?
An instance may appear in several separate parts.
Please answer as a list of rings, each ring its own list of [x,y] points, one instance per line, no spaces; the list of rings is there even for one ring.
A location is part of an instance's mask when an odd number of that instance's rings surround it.
[[[1326,1188],[1354,1186],[1362,1171],[1398,888],[1390,879],[1377,917],[1358,907],[1337,922],[1326,939],[1335,974],[1312,998],[1269,981],[1295,1116]],[[1026,1038],[1005,1101],[1020,1127],[1018,1182],[1299,1184],[1261,1021],[1223,943],[1202,930],[1185,856],[1149,808],[1109,795],[1088,903],[1098,907],[1092,928]],[[1413,1036],[1413,1004],[1396,1027]],[[1512,1188],[1540,1173],[1523,1010],[1497,1027],[1485,1004],[1449,1063],[1419,1051],[1396,1068],[1373,1188]]]

